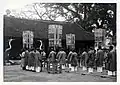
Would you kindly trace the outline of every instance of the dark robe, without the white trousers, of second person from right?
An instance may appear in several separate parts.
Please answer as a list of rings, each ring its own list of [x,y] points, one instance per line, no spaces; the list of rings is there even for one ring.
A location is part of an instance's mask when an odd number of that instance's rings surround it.
[[[104,52],[102,50],[98,50],[96,55],[96,65],[97,67],[102,67],[104,61]]]

